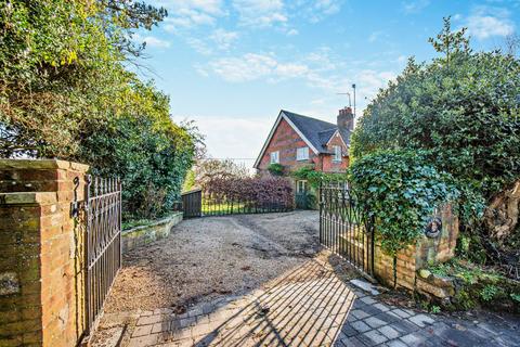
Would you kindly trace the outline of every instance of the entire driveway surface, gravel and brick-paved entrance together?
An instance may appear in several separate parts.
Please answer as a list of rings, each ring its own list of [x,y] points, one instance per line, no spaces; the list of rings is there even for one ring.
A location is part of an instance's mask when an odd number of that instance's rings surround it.
[[[91,346],[520,345],[517,318],[433,316],[356,290],[317,226],[316,211],[181,222],[123,255]]]

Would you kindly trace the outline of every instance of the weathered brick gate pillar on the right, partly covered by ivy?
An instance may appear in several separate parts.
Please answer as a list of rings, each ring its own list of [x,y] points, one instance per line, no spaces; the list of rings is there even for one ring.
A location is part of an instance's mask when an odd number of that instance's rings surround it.
[[[440,235],[432,239],[422,235],[415,244],[398,253],[395,259],[395,284],[398,287],[415,291],[417,270],[428,265],[447,261],[455,256],[455,246],[458,237],[458,218],[453,214],[451,205],[440,208],[434,217],[439,217],[442,221]],[[376,278],[382,284],[393,286],[393,257],[385,255],[377,243],[374,253]]]

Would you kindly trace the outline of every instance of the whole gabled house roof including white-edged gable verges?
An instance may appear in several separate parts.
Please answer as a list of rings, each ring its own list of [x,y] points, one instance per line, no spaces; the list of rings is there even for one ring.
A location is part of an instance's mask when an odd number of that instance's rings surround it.
[[[271,129],[271,132],[268,136],[268,139],[265,140],[265,143],[263,144],[262,150],[260,151],[260,154],[257,157],[257,160],[255,162],[253,167],[258,167],[260,164],[260,160],[268,149],[269,142],[271,142],[274,131],[278,127],[278,124],[282,121],[282,119],[285,119],[290,125],[290,127],[300,136],[300,138],[315,154],[330,153],[326,150],[326,144],[338,131],[337,125],[282,110],[276,118],[276,121],[274,123],[273,128]],[[343,136],[346,134],[341,133],[341,137]],[[343,142],[348,145],[349,139],[343,138]]]

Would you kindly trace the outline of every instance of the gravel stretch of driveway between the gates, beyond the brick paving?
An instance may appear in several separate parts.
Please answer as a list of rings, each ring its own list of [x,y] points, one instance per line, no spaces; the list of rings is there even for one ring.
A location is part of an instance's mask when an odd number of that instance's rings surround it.
[[[301,265],[318,249],[318,214],[188,219],[169,237],[123,255],[105,312],[190,305],[242,294]]]

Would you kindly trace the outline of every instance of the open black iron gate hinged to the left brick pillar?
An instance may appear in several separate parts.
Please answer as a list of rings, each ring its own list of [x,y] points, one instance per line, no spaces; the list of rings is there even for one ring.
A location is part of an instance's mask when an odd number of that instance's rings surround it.
[[[88,335],[121,267],[121,182],[90,176],[87,180],[83,242]]]

